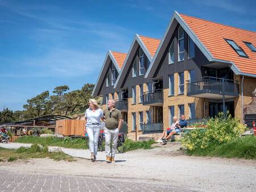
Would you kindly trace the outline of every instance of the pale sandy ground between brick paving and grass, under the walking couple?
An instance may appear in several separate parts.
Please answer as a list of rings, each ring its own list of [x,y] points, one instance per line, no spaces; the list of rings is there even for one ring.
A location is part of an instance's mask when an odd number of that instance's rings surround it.
[[[67,174],[114,178],[135,182],[171,183],[193,191],[256,191],[256,161],[186,156],[180,143],[170,143],[150,150],[139,149],[117,154],[115,164],[105,163],[105,154],[89,161],[89,151],[64,149],[77,161],[53,161],[48,158],[5,162],[0,172]],[[0,147],[2,147],[0,145]],[[15,166],[14,166],[15,165]]]

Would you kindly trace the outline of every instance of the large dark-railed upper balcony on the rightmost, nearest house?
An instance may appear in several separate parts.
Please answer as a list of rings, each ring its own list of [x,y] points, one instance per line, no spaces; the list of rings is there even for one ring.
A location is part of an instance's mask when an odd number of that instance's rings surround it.
[[[234,98],[239,96],[238,83],[224,78],[204,77],[201,81],[188,82],[187,95],[209,99]]]

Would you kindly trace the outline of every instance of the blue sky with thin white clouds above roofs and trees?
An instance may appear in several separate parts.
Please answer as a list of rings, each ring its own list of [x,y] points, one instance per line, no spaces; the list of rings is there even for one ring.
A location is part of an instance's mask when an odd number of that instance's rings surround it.
[[[108,50],[161,38],[174,11],[256,31],[256,1],[0,0],[0,111],[54,87],[95,84]]]

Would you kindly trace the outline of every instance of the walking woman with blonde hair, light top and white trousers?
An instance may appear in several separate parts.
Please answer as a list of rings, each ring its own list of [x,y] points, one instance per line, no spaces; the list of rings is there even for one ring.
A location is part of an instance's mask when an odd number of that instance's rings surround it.
[[[104,114],[95,99],[89,99],[89,108],[85,111],[85,127],[89,136],[90,160],[95,161],[98,151],[98,136],[100,134],[101,119]]]

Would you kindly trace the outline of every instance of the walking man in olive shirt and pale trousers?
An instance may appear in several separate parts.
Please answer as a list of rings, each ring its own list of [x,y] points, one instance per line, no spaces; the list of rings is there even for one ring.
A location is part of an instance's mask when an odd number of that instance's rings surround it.
[[[115,150],[117,149],[118,133],[122,127],[122,114],[115,108],[114,99],[109,99],[108,108],[104,110],[105,116],[105,151],[106,162],[115,162]],[[112,140],[112,150],[110,150],[110,141]]]

